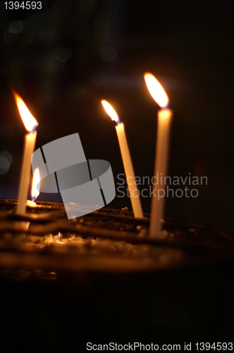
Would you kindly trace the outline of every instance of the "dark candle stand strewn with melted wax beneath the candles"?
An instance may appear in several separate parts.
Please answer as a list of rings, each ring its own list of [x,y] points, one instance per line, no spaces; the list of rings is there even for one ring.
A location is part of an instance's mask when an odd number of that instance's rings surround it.
[[[231,342],[231,234],[164,217],[164,235],[154,239],[146,214],[102,208],[68,220],[62,203],[37,201],[25,215],[16,206],[0,199],[8,347],[154,342],[183,350],[185,342]],[[15,244],[22,221],[30,227]]]

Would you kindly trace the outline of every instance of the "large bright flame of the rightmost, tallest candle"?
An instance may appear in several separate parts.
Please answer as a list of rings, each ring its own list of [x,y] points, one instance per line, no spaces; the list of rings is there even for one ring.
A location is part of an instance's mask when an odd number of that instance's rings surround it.
[[[169,99],[159,81],[152,75],[152,73],[145,73],[144,80],[149,93],[152,95],[155,102],[158,103],[161,108],[166,108],[168,106]]]

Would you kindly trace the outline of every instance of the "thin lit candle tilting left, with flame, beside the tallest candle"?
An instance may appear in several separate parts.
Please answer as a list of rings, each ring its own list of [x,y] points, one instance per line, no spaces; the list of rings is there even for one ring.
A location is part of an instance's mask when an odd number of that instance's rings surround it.
[[[135,217],[142,218],[143,213],[142,213],[142,206],[140,204],[140,192],[137,189],[136,183],[135,183],[135,174],[133,171],[133,164],[132,160],[130,157],[130,152],[128,149],[128,143],[127,139],[125,136],[125,131],[124,131],[124,125],[123,123],[120,122],[118,118],[118,114],[116,111],[111,107],[111,104],[109,102],[106,102],[106,100],[101,100],[101,104],[103,105],[104,109],[106,110],[106,113],[111,117],[111,120],[116,121],[116,133],[118,136],[118,143],[121,148],[121,156],[123,160],[123,167],[125,170],[125,176],[127,179],[127,184],[128,184],[128,190],[130,194],[130,201],[133,206],[133,213]]]

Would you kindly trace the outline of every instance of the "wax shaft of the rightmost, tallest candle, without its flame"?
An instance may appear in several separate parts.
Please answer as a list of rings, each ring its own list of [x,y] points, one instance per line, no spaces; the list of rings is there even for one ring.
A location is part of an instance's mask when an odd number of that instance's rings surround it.
[[[150,237],[159,237],[161,231],[161,217],[164,212],[164,197],[159,197],[165,193],[164,177],[168,164],[168,145],[171,119],[173,112],[171,109],[160,109],[158,112],[158,128],[156,138],[156,155],[154,164],[154,184],[158,179],[158,184],[153,185],[151,215],[149,225]],[[161,177],[163,185],[161,185]],[[157,178],[157,179],[156,179]],[[159,191],[160,190],[160,191]],[[162,192],[164,191],[164,192]]]

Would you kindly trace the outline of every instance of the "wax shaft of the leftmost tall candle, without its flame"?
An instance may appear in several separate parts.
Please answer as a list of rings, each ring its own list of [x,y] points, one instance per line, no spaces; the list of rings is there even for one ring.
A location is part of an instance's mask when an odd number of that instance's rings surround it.
[[[34,152],[37,131],[25,135],[23,164],[20,176],[20,189],[18,193],[18,206],[16,213],[24,214],[26,210],[27,193],[30,186],[31,156]]]

